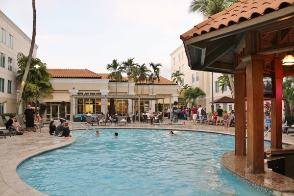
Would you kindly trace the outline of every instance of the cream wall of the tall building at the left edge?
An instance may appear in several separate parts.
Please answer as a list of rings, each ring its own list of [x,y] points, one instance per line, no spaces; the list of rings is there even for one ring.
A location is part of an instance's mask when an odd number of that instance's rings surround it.
[[[5,67],[0,67],[0,78],[4,79],[4,92],[0,92],[0,102],[7,100],[8,103],[3,106],[3,113],[15,113],[17,103],[17,53],[22,52],[26,56],[29,53],[31,39],[15,25],[2,11],[0,11],[0,30],[6,31],[5,43],[0,41],[0,52],[5,55]],[[0,31],[1,34],[1,31]],[[9,34],[13,36],[13,46],[8,46]],[[2,35],[0,35],[2,36]],[[35,45],[33,56],[36,57],[38,46]],[[12,58],[12,70],[8,70],[8,57]],[[7,93],[8,80],[12,81],[11,94]]]

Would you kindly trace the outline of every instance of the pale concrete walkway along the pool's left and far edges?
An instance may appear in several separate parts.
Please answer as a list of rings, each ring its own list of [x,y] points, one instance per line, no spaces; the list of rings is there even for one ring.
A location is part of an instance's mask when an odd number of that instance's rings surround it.
[[[235,128],[230,127],[227,131],[224,131],[224,126],[215,125],[200,125],[197,123],[194,125],[192,121],[179,120],[178,124],[186,123],[186,125],[170,125],[170,126],[159,126],[150,125],[149,123],[127,123],[124,125],[105,125],[105,126],[94,126],[95,129],[101,128],[155,128],[155,129],[177,129],[177,130],[191,130],[191,131],[205,131],[234,135]],[[165,119],[164,123],[168,123]],[[71,128],[73,125],[71,125]],[[82,126],[74,125],[74,129],[81,129]],[[266,139],[270,139],[270,133],[267,135]],[[40,154],[42,152],[64,147],[75,142],[74,138],[63,138],[63,137],[53,137],[49,135],[49,128],[46,125],[37,132],[25,133],[24,135],[17,135],[12,137],[0,136],[0,196],[46,196],[29,185],[25,184],[18,176],[16,169],[27,158],[34,155]],[[283,142],[294,145],[294,134],[283,134]],[[275,173],[275,172],[272,172]],[[284,183],[281,186],[285,186]],[[294,188],[290,181],[287,186]],[[291,195],[291,194],[290,194]]]

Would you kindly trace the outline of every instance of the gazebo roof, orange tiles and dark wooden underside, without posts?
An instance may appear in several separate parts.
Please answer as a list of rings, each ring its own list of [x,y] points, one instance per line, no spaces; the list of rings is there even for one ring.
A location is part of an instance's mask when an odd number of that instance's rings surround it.
[[[287,51],[293,51],[294,55],[294,23],[278,26],[293,17],[294,0],[240,0],[195,25],[180,39],[184,42],[191,70],[232,73],[238,69],[236,54],[245,48],[245,34],[250,30],[256,30],[252,44],[262,42],[257,54],[280,59]],[[292,28],[286,32],[291,24]],[[258,33],[262,41],[256,39]]]

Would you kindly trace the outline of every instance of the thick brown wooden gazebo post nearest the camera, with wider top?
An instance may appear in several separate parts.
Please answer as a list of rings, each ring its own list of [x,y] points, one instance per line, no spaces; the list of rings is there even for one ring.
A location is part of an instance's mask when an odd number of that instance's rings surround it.
[[[263,63],[266,56],[248,55],[246,66],[247,96],[247,168],[252,173],[264,171]]]

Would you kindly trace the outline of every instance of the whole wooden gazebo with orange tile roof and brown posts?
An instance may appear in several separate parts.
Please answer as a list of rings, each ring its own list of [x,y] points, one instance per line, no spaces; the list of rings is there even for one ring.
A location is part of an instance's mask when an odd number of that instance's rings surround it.
[[[270,147],[281,149],[282,79],[294,75],[282,60],[294,55],[294,0],[240,0],[180,39],[191,70],[234,74],[235,155],[247,156],[250,172],[265,172],[263,100],[272,106]],[[266,94],[264,77],[272,84]]]

